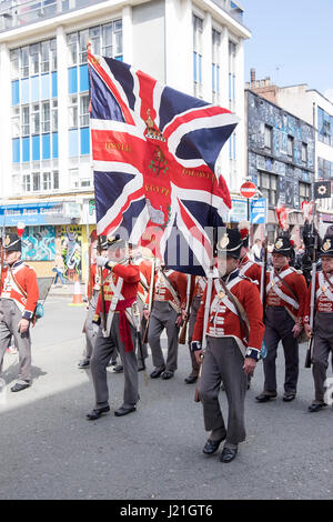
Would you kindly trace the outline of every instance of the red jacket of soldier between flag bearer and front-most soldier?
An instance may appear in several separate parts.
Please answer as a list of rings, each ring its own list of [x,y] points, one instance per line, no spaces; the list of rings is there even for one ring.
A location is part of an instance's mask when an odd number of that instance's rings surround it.
[[[174,292],[178,295],[175,300],[171,291],[168,288],[164,277],[161,273],[161,269],[155,273],[155,285],[154,285],[154,301],[168,301],[171,307],[180,313],[182,309],[186,305],[186,289],[188,289],[188,278],[186,274],[176,272],[175,270],[165,269],[165,275],[168,277],[170,284],[174,289]],[[148,298],[145,300],[148,303]]]

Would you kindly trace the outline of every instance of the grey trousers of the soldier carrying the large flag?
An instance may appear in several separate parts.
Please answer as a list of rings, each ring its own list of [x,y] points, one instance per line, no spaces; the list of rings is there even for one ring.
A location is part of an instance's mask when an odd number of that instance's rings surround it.
[[[102,334],[100,327],[97,334],[92,358],[90,361],[92,381],[95,393],[95,408],[103,408],[109,403],[108,372],[107,367],[117,349],[119,350],[124,374],[123,408],[131,408],[139,400],[138,394],[138,361],[135,355],[135,330],[130,327],[134,350],[125,352],[125,347],[120,339],[119,332],[120,314],[114,313],[111,332],[108,338]]]

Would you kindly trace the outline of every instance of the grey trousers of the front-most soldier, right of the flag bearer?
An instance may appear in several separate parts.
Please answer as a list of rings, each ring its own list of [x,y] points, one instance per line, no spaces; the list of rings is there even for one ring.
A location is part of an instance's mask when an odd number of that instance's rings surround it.
[[[244,400],[248,380],[243,364],[244,358],[233,338],[208,337],[198,384],[203,405],[204,426],[206,431],[226,432],[226,442],[232,444],[244,441],[246,436]],[[226,429],[219,402],[221,381],[225,387],[229,405]]]

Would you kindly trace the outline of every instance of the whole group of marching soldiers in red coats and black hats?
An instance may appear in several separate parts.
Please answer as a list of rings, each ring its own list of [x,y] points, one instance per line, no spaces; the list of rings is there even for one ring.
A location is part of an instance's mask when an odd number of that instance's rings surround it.
[[[171,270],[119,237],[102,238],[90,267],[87,347],[79,362],[80,369],[90,368],[92,374],[94,405],[87,415],[89,421],[110,411],[108,367],[118,368],[124,377],[117,416],[137,410],[138,372],[145,372],[148,347],[154,367],[150,378],[172,379],[178,369],[180,330],[185,325],[190,352],[185,384],[195,384],[202,403],[204,426],[210,432],[205,454],[215,453],[224,441],[221,462],[236,456],[246,436],[245,393],[261,358],[264,382],[255,400],[266,403],[276,399],[280,342],[285,361],[283,401],[296,396],[299,343],[305,335],[313,339],[314,400],[309,412],[326,406],[325,378],[333,351],[333,235],[327,234],[317,245],[321,270],[313,273],[313,284],[295,268],[304,251],[300,249],[296,255],[287,234],[281,233],[268,247],[268,255],[261,241],[252,249],[249,241],[249,228],[226,229],[216,243],[215,267],[206,278]],[[2,367],[13,335],[20,354],[13,392],[31,385],[30,325],[38,301],[36,273],[22,262],[20,248],[20,239],[8,234],[1,274],[0,363]],[[229,404],[226,422],[219,402],[221,387]]]

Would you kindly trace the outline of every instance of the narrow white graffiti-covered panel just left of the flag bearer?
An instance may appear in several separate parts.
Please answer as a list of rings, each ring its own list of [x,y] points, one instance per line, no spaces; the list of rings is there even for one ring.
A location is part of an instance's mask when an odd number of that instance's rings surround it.
[[[82,272],[82,230],[78,225],[61,229],[61,252],[64,263],[64,275],[73,281],[81,279]]]

